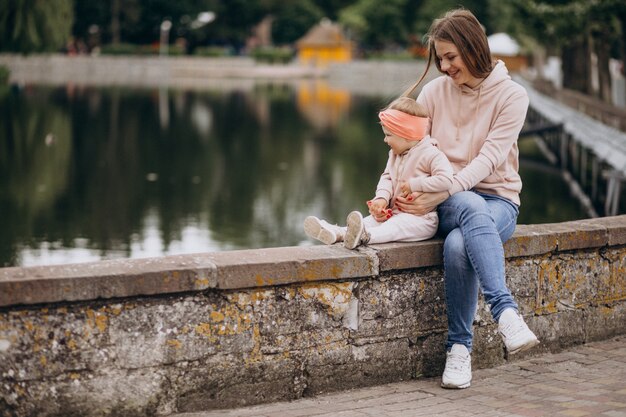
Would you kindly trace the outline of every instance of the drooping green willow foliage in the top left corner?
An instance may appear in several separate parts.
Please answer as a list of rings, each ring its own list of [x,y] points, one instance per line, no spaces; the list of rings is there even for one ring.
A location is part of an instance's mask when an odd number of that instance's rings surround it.
[[[0,50],[47,52],[61,49],[74,19],[72,0],[4,0],[0,7]]]

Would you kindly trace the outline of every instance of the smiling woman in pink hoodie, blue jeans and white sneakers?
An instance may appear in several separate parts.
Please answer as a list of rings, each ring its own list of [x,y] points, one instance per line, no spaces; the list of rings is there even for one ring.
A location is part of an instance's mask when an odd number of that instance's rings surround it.
[[[430,135],[455,175],[447,192],[413,193],[396,204],[412,214],[438,210],[448,314],[441,384],[467,388],[479,288],[509,354],[539,343],[506,286],[502,246],[515,231],[519,213],[517,138],[528,96],[504,63],[492,60],[485,32],[471,12],[448,12],[433,22],[427,36],[426,70],[404,95],[415,90],[434,60],[444,76],[427,83],[417,102],[428,109]]]

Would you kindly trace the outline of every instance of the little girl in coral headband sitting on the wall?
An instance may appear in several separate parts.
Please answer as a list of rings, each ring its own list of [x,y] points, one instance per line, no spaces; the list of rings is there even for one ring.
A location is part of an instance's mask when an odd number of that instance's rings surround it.
[[[394,100],[378,113],[385,143],[391,148],[375,197],[367,202],[370,215],[348,215],[341,227],[309,216],[305,233],[327,245],[343,241],[348,249],[363,244],[415,242],[437,232],[437,212],[423,216],[403,213],[395,207],[398,196],[410,198],[414,191],[447,191],[452,186],[452,166],[429,135],[426,111],[409,97]]]

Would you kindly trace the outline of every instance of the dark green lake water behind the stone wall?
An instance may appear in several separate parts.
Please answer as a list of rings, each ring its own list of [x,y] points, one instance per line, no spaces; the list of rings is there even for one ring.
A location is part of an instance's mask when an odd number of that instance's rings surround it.
[[[311,245],[366,211],[388,97],[323,81],[0,91],[0,266]],[[519,223],[587,217],[532,138]]]

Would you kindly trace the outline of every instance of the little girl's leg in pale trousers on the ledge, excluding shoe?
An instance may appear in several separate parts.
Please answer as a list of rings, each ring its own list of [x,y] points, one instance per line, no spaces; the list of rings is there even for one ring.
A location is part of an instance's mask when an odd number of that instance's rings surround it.
[[[370,234],[369,244],[387,242],[417,242],[430,239],[437,232],[439,224],[437,213],[431,212],[424,216],[399,213],[394,214],[385,222],[378,223],[373,217],[364,220]]]

